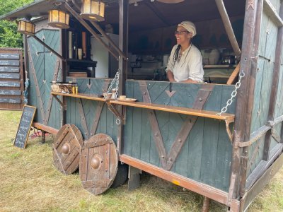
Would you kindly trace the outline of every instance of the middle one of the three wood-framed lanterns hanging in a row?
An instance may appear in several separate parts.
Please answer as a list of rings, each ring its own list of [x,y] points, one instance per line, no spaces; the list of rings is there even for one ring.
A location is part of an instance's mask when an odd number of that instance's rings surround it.
[[[48,25],[54,28],[69,28],[69,14],[64,11],[52,10],[49,11]]]

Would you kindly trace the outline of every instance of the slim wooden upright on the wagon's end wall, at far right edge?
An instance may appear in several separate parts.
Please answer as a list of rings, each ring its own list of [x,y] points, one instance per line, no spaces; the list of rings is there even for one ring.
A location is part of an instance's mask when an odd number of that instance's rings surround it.
[[[280,11],[279,11],[280,18],[283,17],[283,6],[281,4]],[[275,65],[273,70],[273,77],[272,77],[272,88],[271,88],[271,95],[270,95],[270,106],[268,110],[268,121],[273,121],[275,119],[275,106],[277,100],[277,91],[278,83],[279,83],[279,73],[281,69],[281,56],[282,56],[282,42],[283,42],[283,28],[280,27],[277,32],[277,43],[276,43],[276,50],[275,50]],[[262,160],[268,160],[269,153],[270,153],[270,141],[271,141],[271,131],[267,131],[265,135],[265,145],[263,148],[263,156]]]

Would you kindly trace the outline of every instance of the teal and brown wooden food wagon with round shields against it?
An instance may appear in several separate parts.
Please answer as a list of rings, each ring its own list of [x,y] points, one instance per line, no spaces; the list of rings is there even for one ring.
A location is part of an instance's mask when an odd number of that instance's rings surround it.
[[[100,194],[115,176],[118,184],[127,176],[119,160],[129,165],[130,189],[138,186],[142,170],[205,196],[204,211],[209,199],[229,211],[246,210],[282,166],[282,1],[103,2],[102,22],[81,18],[77,0],[35,1],[1,17],[33,17],[35,35],[24,35],[28,102],[38,109],[34,126],[57,134],[54,165],[65,174],[79,166],[83,187]],[[69,13],[69,29],[47,24],[52,9]],[[128,53],[161,61],[182,20],[197,25],[200,36],[193,42],[200,49],[230,48],[241,57],[238,66],[204,66],[205,73],[227,72],[232,81],[238,76],[236,85],[213,75],[208,78],[214,83],[203,84],[139,80],[140,63],[154,61],[137,57],[130,66]],[[119,34],[118,47],[101,29],[107,24]],[[102,53],[91,56],[91,36],[118,61],[114,72],[105,68],[108,78],[94,77],[100,61],[91,57]],[[74,59],[74,47],[85,58]],[[86,71],[76,75],[76,69]],[[117,70],[119,94],[137,102],[100,97]],[[79,94],[54,93],[51,81],[76,82]]]

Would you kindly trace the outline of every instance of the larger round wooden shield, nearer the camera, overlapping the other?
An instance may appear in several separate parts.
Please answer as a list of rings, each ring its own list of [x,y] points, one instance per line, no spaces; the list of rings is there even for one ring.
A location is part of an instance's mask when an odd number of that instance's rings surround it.
[[[96,195],[102,194],[115,179],[117,167],[117,148],[110,136],[96,134],[84,142],[79,163],[84,189]]]

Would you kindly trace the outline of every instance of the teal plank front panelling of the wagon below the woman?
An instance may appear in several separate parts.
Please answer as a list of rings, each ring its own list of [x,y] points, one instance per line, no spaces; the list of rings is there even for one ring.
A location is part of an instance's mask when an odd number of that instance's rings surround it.
[[[165,102],[167,105],[182,107],[192,107],[200,88],[200,85],[185,83],[173,83],[170,88],[168,82],[147,82],[147,86],[152,102],[157,104]],[[234,86],[216,85],[204,105],[205,110],[219,111],[226,105],[234,88]],[[166,90],[170,89],[176,90],[172,98],[166,94]],[[127,81],[126,94],[130,98],[142,100],[137,81]],[[236,100],[229,109],[232,113],[235,112],[235,105]],[[147,113],[148,110],[145,109],[127,107],[123,153],[161,167]],[[161,111],[155,111],[155,114],[164,147],[168,153],[187,116]],[[231,151],[231,141],[226,133],[224,122],[200,117],[192,127],[171,172],[227,192],[230,180]]]

